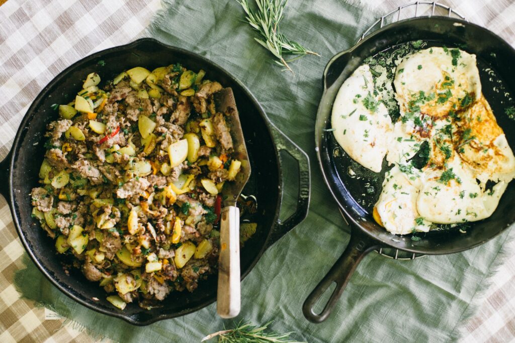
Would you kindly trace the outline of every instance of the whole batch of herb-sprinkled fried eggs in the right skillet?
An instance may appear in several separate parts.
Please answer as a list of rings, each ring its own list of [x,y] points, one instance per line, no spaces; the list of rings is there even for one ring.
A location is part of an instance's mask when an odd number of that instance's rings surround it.
[[[331,130],[345,149],[333,142],[335,164],[354,159],[347,174],[370,180],[355,197],[392,233],[463,229],[495,210],[514,176],[475,56],[458,48],[417,41],[367,59],[340,88]]]

